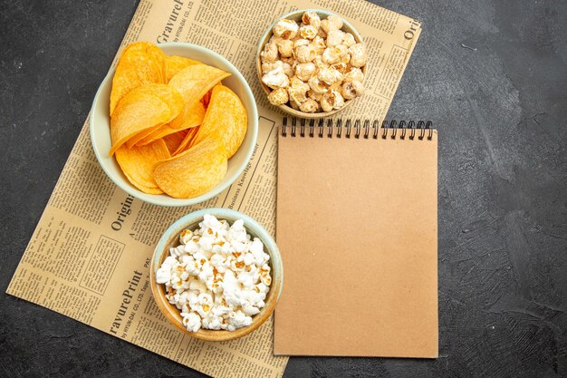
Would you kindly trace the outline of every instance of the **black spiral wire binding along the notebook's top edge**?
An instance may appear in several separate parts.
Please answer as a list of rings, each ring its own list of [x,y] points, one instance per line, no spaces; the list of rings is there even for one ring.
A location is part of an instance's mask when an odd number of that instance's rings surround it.
[[[288,117],[283,117],[283,137],[288,136],[287,119]],[[388,139],[389,136],[389,138],[393,140],[395,140],[396,138],[405,140],[407,137],[410,141],[413,141],[416,137],[418,137],[419,141],[422,141],[423,139],[431,141],[433,139],[432,121],[382,121],[380,127],[380,121],[378,120],[372,121],[372,126],[370,126],[370,120],[360,121],[357,119],[353,122],[351,119],[343,121],[341,118],[339,118],[334,121],[328,119],[325,122],[325,120],[322,119],[319,121],[305,119],[298,120],[294,117],[290,117],[290,119],[291,131],[289,132],[289,135],[293,138],[297,136],[304,138],[305,131],[306,129],[308,129],[307,135],[309,135],[309,138],[314,138],[315,136],[323,138],[325,135],[327,136],[327,138],[341,138],[342,135],[344,135],[344,137],[347,139],[350,139],[351,136],[354,136],[354,138],[356,139],[359,139],[360,136],[362,136],[362,138],[364,139]],[[298,121],[299,133],[297,132]],[[315,123],[317,123],[317,125],[315,125]],[[354,131],[352,131],[353,128]]]

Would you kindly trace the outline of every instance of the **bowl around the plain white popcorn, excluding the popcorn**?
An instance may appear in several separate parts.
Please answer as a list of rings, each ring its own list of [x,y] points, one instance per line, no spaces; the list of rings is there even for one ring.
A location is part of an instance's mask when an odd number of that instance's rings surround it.
[[[272,285],[264,302],[265,306],[260,312],[252,316],[252,324],[238,328],[235,331],[226,330],[209,330],[199,329],[197,332],[189,332],[183,325],[183,318],[181,312],[175,305],[171,305],[166,298],[165,285],[156,283],[156,271],[161,267],[161,264],[169,256],[169,248],[177,247],[179,245],[179,234],[185,228],[194,230],[198,228],[198,223],[203,220],[205,214],[214,215],[218,219],[226,219],[231,224],[237,219],[243,219],[245,222],[246,232],[252,237],[258,237],[264,243],[265,252],[270,255],[269,265],[272,268]],[[163,236],[159,239],[158,245],[154,250],[154,255],[151,259],[151,266],[149,267],[149,282],[151,293],[156,300],[161,313],[168,319],[168,321],[175,325],[180,331],[189,334],[200,340],[206,341],[228,341],[234,340],[245,334],[250,334],[252,331],[263,325],[264,322],[274,313],[275,305],[282,294],[283,286],[283,265],[282,257],[278,247],[275,245],[274,239],[267,233],[267,231],[260,226],[253,218],[246,216],[238,211],[229,208],[205,208],[195,211],[179,218],[172,224]]]

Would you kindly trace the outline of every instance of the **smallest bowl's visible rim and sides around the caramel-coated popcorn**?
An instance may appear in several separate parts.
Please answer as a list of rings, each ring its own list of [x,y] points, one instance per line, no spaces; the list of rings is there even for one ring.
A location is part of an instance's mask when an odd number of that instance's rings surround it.
[[[280,21],[284,18],[287,18],[288,20],[293,20],[293,21],[297,22],[298,24],[300,24],[301,20],[302,20],[302,15],[307,11],[315,11],[317,13],[317,15],[319,15],[321,17],[321,19],[325,19],[330,15],[335,15],[332,12],[325,11],[323,9],[299,9],[299,10],[290,12],[288,14],[285,14],[285,15],[281,16],[280,18],[278,18],[277,20],[275,20],[274,23],[271,24],[270,27],[268,27],[268,29],[265,31],[264,35],[260,39],[260,44],[258,44],[258,50],[256,51],[256,73],[258,74],[258,80],[260,81],[260,85],[262,85],[262,88],[264,88],[264,92],[265,92],[266,96],[268,94],[270,94],[272,92],[272,90],[270,89],[270,87],[265,85],[264,82],[262,82],[262,76],[263,76],[262,75],[262,60],[260,59],[260,53],[262,53],[264,51],[264,45],[268,43],[268,41],[270,40],[270,38],[274,34],[272,32],[272,29],[274,29],[275,23],[277,23],[278,21]],[[340,15],[338,15],[338,16],[341,17]],[[351,23],[349,23],[343,17],[341,17],[341,19],[343,21],[343,25],[342,25],[341,30],[345,33],[352,34],[354,36],[354,40],[357,43],[363,42],[362,36],[360,36],[359,32],[354,28],[354,26],[352,26]],[[366,67],[367,67],[367,65],[368,65],[368,63],[365,64],[361,68],[362,73],[364,73],[365,78],[366,78]],[[356,100],[356,98],[345,101],[344,106],[341,109],[336,109],[336,110],[333,110],[333,111],[321,111],[321,112],[316,112],[316,113],[306,113],[306,112],[303,112],[303,111],[296,111],[291,106],[287,106],[285,104],[279,105],[278,108],[280,108],[281,110],[283,110],[283,111],[285,111],[289,114],[292,114],[294,117],[318,119],[318,118],[324,118],[324,117],[332,116],[333,114],[336,114],[339,111],[346,109],[346,107],[351,105],[351,103],[354,100]]]

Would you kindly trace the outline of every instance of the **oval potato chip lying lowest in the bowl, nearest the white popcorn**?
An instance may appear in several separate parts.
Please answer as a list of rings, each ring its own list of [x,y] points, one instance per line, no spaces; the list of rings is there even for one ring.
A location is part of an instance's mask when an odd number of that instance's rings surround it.
[[[161,162],[154,170],[160,189],[176,199],[206,193],[225,177],[225,146],[215,135],[185,152]]]

